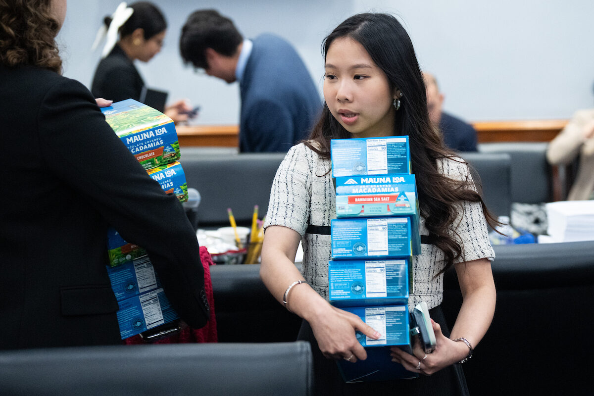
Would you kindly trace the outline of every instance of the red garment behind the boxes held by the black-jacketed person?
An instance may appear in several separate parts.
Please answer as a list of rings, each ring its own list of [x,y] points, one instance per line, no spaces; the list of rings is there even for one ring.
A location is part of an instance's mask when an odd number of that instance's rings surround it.
[[[178,344],[178,343],[216,343],[217,342],[217,321],[214,317],[214,297],[213,283],[210,280],[210,265],[214,265],[213,259],[204,246],[200,246],[200,261],[204,267],[204,291],[210,305],[210,318],[206,326],[200,329],[193,329],[185,326],[178,334],[170,335],[151,344]],[[124,343],[127,345],[146,344],[140,335],[133,335],[126,338]]]

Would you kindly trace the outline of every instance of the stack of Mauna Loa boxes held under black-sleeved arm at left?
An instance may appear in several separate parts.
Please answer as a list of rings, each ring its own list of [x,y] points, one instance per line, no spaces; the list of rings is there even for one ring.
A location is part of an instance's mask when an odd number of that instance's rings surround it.
[[[133,99],[103,107],[106,121],[150,177],[179,201],[188,199],[178,137],[172,119]],[[160,325],[176,325],[179,315],[170,305],[144,248],[108,230],[108,274],[118,300],[118,324],[124,338]]]

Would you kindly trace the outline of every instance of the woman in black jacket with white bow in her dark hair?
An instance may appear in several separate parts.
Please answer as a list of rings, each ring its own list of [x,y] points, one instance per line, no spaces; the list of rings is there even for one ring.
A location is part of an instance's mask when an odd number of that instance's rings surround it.
[[[175,123],[188,120],[191,107],[186,100],[166,106],[166,93],[150,90],[134,66],[134,61],[149,62],[163,47],[167,22],[156,5],[138,1],[121,3],[110,17],[105,17],[96,47],[106,32],[102,59],[97,65],[91,92],[95,97],[119,102],[134,99],[164,112]],[[119,40],[118,40],[119,33]]]

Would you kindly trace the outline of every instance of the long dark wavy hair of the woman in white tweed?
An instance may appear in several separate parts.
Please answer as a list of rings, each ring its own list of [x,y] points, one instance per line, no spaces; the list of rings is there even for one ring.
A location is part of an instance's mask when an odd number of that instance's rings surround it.
[[[457,214],[462,210],[462,201],[480,202],[486,220],[491,226],[497,220],[487,210],[481,195],[469,180],[453,180],[439,169],[438,159],[456,161],[456,154],[445,148],[427,112],[425,83],[415,55],[415,49],[405,28],[389,14],[358,14],[345,20],[330,33],[322,44],[324,59],[334,40],[349,37],[361,43],[375,64],[386,74],[390,90],[403,93],[402,106],[394,112],[394,135],[407,135],[410,144],[412,171],[417,181],[421,216],[425,226],[434,237],[435,245],[445,254],[444,270],[463,258],[459,238],[449,230]],[[330,140],[351,138],[350,132],[331,115],[326,103],[319,121],[304,143],[323,158],[330,158]]]

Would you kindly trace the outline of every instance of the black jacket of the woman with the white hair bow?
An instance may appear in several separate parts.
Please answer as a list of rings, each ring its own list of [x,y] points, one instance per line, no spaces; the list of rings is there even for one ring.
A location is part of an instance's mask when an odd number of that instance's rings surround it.
[[[102,97],[113,102],[125,99],[140,100],[144,87],[134,63],[119,45],[115,45],[108,56],[101,59],[95,75],[91,92],[94,97]]]

